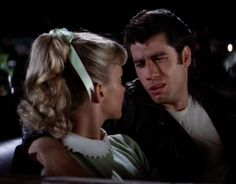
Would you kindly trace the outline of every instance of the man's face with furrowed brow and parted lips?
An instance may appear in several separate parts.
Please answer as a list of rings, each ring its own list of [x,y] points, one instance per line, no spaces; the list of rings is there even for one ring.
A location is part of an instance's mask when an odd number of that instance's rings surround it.
[[[180,64],[176,50],[167,44],[164,34],[155,35],[143,44],[136,42],[130,50],[137,76],[151,98],[163,105],[178,103],[187,93],[190,60],[183,57]]]

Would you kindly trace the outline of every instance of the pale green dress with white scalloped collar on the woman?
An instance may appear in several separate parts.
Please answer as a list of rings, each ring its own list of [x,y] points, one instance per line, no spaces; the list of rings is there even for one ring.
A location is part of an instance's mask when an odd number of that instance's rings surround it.
[[[91,177],[115,180],[149,179],[147,159],[130,137],[117,134],[94,140],[69,133],[63,144]]]

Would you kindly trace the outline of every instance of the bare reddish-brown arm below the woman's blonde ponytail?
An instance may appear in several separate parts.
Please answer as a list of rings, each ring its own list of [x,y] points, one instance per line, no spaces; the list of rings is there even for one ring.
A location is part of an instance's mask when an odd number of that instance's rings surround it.
[[[63,144],[52,137],[40,137],[34,140],[28,150],[29,155],[43,165],[47,176],[86,177],[84,169],[76,162]]]

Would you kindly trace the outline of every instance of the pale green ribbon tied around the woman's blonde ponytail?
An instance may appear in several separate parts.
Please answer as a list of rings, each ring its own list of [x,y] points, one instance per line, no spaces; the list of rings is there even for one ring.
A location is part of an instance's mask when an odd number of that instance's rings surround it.
[[[60,37],[63,37],[67,40],[67,42],[70,45],[70,62],[72,66],[74,67],[75,71],[78,73],[79,77],[81,78],[82,82],[84,83],[84,86],[88,92],[89,99],[92,98],[91,91],[94,91],[94,85],[93,82],[88,75],[79,55],[75,51],[74,47],[72,46],[71,42],[74,38],[74,33],[71,31],[68,31],[66,28],[61,29],[53,29],[49,32],[49,34],[57,35]]]

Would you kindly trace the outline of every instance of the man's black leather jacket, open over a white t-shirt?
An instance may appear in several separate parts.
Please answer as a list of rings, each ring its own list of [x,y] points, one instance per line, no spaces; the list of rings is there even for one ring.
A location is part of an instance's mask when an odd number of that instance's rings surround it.
[[[116,123],[106,124],[108,133],[127,134],[137,141],[150,164],[158,169],[161,181],[198,181],[204,157],[192,138],[168,111],[151,100],[138,79],[128,82],[126,87],[123,117]],[[234,104],[205,86],[194,84],[190,86],[190,92],[212,119],[234,173],[236,118],[228,110]]]

